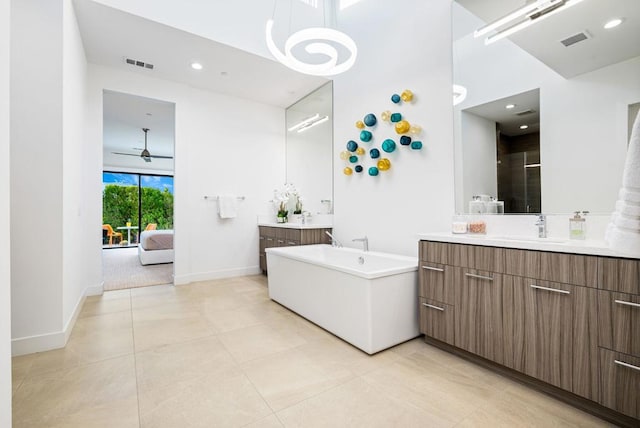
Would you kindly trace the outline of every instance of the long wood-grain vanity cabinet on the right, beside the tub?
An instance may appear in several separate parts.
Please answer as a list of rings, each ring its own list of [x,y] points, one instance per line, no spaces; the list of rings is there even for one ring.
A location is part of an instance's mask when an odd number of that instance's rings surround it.
[[[637,418],[607,352],[640,358],[640,261],[421,241],[420,263],[427,338]]]

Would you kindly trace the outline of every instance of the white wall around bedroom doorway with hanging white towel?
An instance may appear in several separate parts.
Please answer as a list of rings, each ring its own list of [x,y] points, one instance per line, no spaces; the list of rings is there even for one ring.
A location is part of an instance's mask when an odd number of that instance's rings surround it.
[[[102,66],[89,66],[89,80],[87,139],[100,160],[104,89],[176,105],[175,282],[258,273],[257,215],[285,180],[284,109]],[[204,200],[222,194],[246,197],[237,218],[219,219]]]

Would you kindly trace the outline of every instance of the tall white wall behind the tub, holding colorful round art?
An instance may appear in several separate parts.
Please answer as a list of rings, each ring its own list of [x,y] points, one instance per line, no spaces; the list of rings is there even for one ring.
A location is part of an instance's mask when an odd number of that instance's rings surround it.
[[[379,7],[361,2],[340,18],[359,50],[356,65],[334,80],[335,232],[345,245],[356,247],[351,239],[367,235],[371,250],[415,255],[416,235],[448,230],[453,215],[451,1],[397,1],[384,16],[372,13]],[[414,92],[415,102],[391,103],[404,89]],[[378,177],[343,175],[346,164],[337,156],[348,140],[357,140],[355,121],[370,112],[380,119],[384,110],[422,125],[424,148],[398,147],[389,156],[391,169]],[[382,121],[374,135],[378,144],[398,141]],[[369,164],[363,163],[365,171]]]

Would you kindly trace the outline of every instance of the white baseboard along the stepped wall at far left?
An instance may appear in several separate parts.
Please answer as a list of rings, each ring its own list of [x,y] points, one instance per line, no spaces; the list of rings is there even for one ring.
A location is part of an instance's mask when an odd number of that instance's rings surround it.
[[[82,310],[82,306],[84,305],[87,296],[102,294],[102,286],[103,283],[100,285],[89,286],[84,289],[82,296],[78,299],[78,302],[73,309],[73,314],[69,317],[69,320],[66,322],[62,331],[11,339],[11,356],[17,357],[20,355],[64,348],[71,336],[73,327],[76,325],[78,315],[80,315],[80,311]]]

